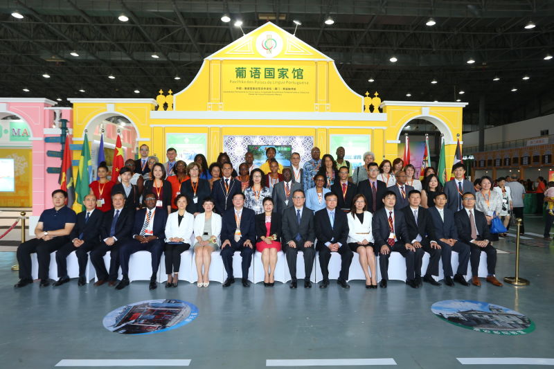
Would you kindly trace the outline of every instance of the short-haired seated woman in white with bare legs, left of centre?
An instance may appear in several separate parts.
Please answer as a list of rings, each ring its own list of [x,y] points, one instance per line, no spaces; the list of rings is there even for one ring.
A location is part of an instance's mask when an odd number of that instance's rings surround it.
[[[220,248],[221,240],[221,215],[214,213],[214,202],[211,197],[206,197],[202,203],[204,213],[199,213],[195,217],[195,238],[197,242],[194,245],[196,271],[198,273],[198,287],[208,287],[210,278],[210,263],[212,261],[212,251]],[[204,266],[204,271],[202,271]]]

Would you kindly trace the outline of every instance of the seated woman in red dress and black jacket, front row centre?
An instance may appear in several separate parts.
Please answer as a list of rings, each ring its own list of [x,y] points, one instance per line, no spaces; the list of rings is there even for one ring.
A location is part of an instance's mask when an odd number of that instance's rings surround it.
[[[264,266],[264,286],[273,287],[275,284],[275,266],[277,253],[281,249],[281,219],[274,213],[273,200],[266,197],[262,202],[264,212],[256,215],[256,250],[262,253]]]

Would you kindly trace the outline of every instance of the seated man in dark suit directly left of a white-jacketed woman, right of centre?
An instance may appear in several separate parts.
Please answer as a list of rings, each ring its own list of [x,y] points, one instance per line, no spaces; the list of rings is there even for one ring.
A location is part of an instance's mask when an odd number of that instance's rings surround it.
[[[319,266],[323,280],[319,288],[327,288],[329,285],[329,260],[331,253],[336,252],[341,255],[341,272],[337,283],[343,288],[350,288],[346,283],[348,280],[348,271],[352,262],[352,250],[348,247],[348,219],[346,213],[337,209],[337,195],[332,192],[325,194],[325,208],[316,211],[314,215],[314,225],[317,237],[317,251],[319,251]]]

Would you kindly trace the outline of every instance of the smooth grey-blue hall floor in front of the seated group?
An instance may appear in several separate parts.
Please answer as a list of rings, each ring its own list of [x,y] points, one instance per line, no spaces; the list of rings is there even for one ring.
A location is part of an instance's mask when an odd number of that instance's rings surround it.
[[[540,234],[542,219],[528,218],[526,227]],[[497,276],[513,276],[513,238],[495,246],[510,252],[498,255]],[[247,369],[264,368],[267,359],[379,358],[393,359],[394,368],[537,368],[462,365],[456,358],[554,358],[553,246],[521,246],[521,277],[531,281],[528,287],[483,282],[481,288],[411,289],[392,281],[388,289],[368,290],[363,281],[354,281],[348,291],[334,281],[325,290],[291,290],[278,282],[271,289],[240,283],[199,289],[181,281],[177,289],[159,285],[149,291],[148,282],[132,282],[116,291],[106,285],[78,287],[76,280],[56,288],[35,283],[14,289],[17,272],[10,266],[15,253],[1,252],[0,368],[54,368],[62,359],[190,359],[191,368]],[[199,316],[184,327],[143,336],[115,334],[102,326],[102,318],[116,307],[156,298],[186,300],[199,308]],[[536,329],[496,336],[456,327],[431,313],[433,303],[449,299],[515,309]],[[349,367],[336,364],[325,368]]]

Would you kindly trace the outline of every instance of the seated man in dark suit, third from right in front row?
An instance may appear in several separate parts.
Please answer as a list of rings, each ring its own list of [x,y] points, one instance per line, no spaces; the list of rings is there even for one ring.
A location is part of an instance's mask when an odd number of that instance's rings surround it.
[[[426,208],[420,206],[421,192],[411,190],[408,192],[409,206],[402,208],[402,213],[406,218],[406,228],[411,244],[415,247],[415,282],[421,285],[421,265],[423,255],[429,253],[429,265],[423,282],[434,286],[440,286],[440,283],[433,279],[438,276],[438,262],[440,261],[440,246],[436,242],[435,227],[431,214]]]

